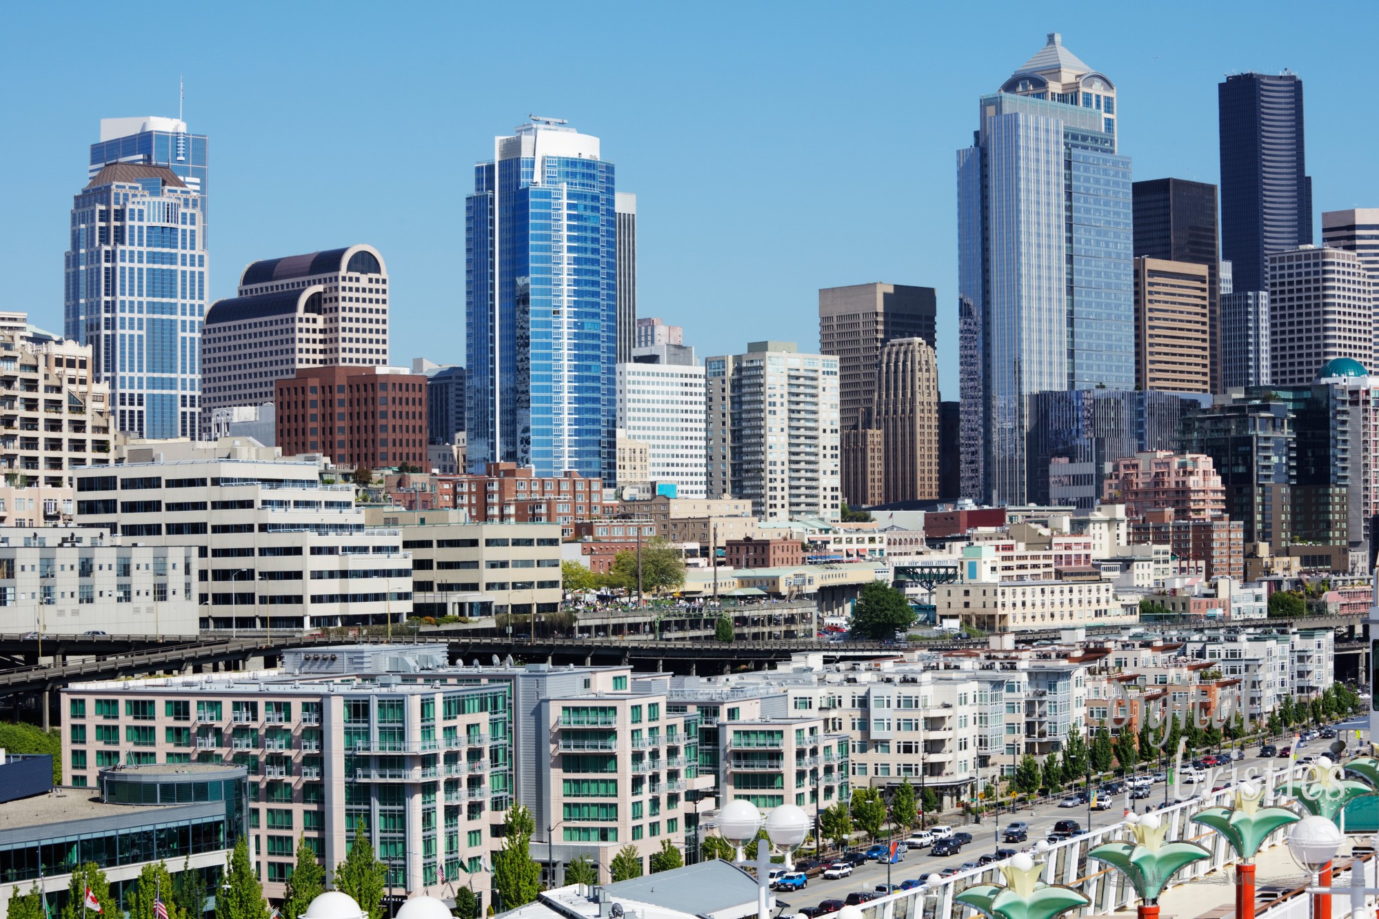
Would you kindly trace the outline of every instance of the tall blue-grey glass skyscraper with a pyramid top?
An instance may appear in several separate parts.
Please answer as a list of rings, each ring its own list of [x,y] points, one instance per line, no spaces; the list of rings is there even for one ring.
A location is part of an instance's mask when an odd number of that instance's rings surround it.
[[[1135,385],[1131,163],[1116,86],[1058,33],[958,150],[963,497],[1026,501],[1026,396]]]

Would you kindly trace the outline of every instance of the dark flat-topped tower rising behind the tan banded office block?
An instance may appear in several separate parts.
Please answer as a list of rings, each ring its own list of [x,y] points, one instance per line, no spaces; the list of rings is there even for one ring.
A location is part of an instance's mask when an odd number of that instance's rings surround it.
[[[1207,266],[1208,367],[1211,389],[1220,392],[1220,244],[1216,186],[1162,178],[1135,182],[1135,257]]]

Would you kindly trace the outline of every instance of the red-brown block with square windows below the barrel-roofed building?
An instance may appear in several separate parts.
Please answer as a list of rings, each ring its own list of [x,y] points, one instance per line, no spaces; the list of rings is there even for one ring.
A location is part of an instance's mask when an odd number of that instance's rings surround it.
[[[426,377],[403,367],[302,367],[273,382],[277,446],[343,466],[423,468]]]

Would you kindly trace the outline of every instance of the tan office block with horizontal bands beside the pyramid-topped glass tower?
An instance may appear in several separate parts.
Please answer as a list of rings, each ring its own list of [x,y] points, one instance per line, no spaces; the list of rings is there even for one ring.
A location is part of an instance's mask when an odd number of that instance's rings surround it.
[[[1207,265],[1135,258],[1135,386],[1211,392]]]

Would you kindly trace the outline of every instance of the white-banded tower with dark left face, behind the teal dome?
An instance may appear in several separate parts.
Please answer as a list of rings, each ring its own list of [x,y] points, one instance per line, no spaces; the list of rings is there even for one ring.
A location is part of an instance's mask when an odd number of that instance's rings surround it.
[[[1338,357],[1375,366],[1375,284],[1357,253],[1299,246],[1269,257],[1269,382],[1306,386]]]

